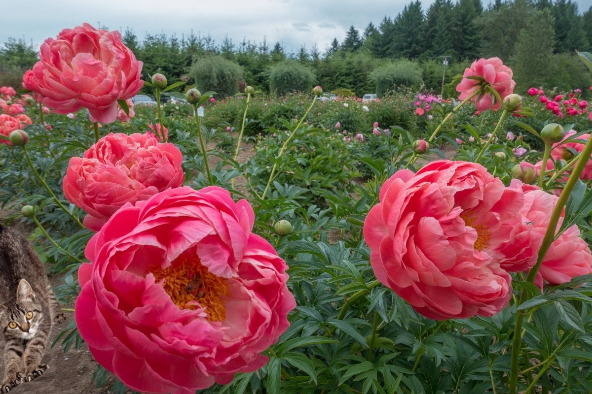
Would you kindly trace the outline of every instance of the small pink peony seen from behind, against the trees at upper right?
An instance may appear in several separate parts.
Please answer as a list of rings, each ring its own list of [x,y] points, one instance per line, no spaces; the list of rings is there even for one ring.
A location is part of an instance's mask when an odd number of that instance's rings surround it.
[[[512,70],[504,66],[500,58],[480,58],[475,60],[471,67],[465,69],[461,83],[456,86],[456,91],[461,93],[459,100],[464,100],[475,92],[480,92],[472,100],[480,111],[488,109],[500,109],[501,101],[496,96],[485,90],[486,87],[496,90],[501,100],[514,92],[516,83],[512,79]]]

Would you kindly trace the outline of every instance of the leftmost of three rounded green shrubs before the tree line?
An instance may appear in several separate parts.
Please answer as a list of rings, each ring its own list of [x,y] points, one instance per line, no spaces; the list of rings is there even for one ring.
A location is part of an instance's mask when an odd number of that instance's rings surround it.
[[[208,56],[195,61],[189,74],[201,92],[213,90],[218,93],[218,97],[227,97],[239,92],[243,69],[234,61],[221,56]]]

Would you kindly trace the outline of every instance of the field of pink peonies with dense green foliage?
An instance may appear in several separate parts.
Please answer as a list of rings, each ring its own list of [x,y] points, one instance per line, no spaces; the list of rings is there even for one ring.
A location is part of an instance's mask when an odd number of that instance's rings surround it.
[[[83,24],[0,89],[0,203],[111,392],[590,393],[588,90],[218,97]]]

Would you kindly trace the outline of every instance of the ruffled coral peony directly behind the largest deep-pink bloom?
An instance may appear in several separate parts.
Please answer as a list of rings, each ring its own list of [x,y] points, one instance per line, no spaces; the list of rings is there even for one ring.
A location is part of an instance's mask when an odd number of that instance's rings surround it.
[[[99,230],[126,203],[147,200],[159,191],[181,186],[181,151],[147,134],[110,133],[83,157],[73,157],[63,181],[70,203],[87,215],[84,225]]]

